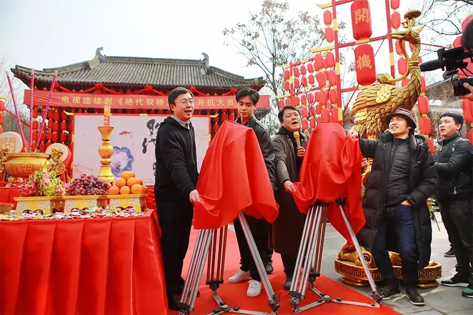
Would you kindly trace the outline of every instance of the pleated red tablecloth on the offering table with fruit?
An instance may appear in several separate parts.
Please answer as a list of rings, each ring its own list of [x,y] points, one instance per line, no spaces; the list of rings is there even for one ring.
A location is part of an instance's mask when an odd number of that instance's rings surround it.
[[[0,314],[167,314],[155,210],[0,222]]]

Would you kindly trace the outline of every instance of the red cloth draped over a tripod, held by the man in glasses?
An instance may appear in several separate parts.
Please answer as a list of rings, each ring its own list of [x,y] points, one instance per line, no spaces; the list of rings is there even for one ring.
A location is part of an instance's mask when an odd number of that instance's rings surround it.
[[[253,129],[226,120],[202,163],[194,204],[196,229],[219,228],[244,210],[273,222],[278,206]]]

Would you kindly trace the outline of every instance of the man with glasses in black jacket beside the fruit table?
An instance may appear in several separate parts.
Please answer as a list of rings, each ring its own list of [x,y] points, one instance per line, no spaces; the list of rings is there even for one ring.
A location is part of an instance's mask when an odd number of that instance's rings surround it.
[[[156,135],[156,178],[154,196],[161,227],[161,250],[166,276],[169,309],[179,311],[184,288],[182,265],[189,247],[196,190],[197,156],[195,133],[190,119],[194,96],[185,88],[168,95],[172,116],[160,124]]]

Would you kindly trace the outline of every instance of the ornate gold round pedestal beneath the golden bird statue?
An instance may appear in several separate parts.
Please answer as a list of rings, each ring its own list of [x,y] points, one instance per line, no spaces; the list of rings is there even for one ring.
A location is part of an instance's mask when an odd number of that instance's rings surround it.
[[[368,286],[368,279],[358,260],[358,255],[355,251],[352,251],[353,247],[345,245],[339,252],[338,259],[335,259],[335,271],[343,275],[343,283],[354,287],[366,287]],[[370,252],[364,248],[363,257],[368,263],[369,271],[373,276],[374,281],[382,280],[381,273],[378,271],[376,264],[374,263],[373,256]],[[399,279],[402,279],[401,270],[401,258],[398,253],[389,252],[389,258],[394,267],[394,272]],[[439,285],[436,279],[442,277],[442,265],[438,262],[430,260],[429,266],[419,271],[419,285],[420,289],[435,288]]]

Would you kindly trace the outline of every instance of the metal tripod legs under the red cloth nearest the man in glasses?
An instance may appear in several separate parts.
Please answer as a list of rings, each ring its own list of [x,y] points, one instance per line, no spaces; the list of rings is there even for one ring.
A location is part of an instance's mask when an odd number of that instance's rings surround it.
[[[251,256],[258,270],[258,274],[261,277],[261,282],[264,286],[266,294],[268,296],[268,305],[271,313],[276,313],[280,307],[280,303],[274,294],[274,291],[269,283],[268,276],[264,269],[263,262],[259,256],[256,243],[254,242],[253,236],[249,229],[248,222],[243,212],[238,213],[238,219],[241,223],[246,242],[248,243]],[[270,315],[271,313],[256,312],[240,310],[238,307],[229,307],[218,295],[217,289],[221,284],[224,283],[224,265],[225,265],[225,252],[227,248],[227,233],[228,224],[220,228],[220,232],[217,229],[206,229],[199,230],[197,235],[197,241],[192,253],[191,264],[187,273],[186,284],[182,293],[181,302],[179,303],[180,315],[189,315],[190,312],[194,311],[195,302],[197,298],[197,291],[199,289],[199,283],[202,279],[202,275],[205,267],[205,260],[207,255],[209,259],[207,262],[207,281],[206,284],[212,289],[212,297],[217,302],[219,308],[214,309],[208,315],[219,315],[223,313],[238,313],[248,315]],[[219,234],[219,237],[217,237]],[[217,250],[217,238],[218,238],[218,250]],[[218,255],[218,256],[217,256]],[[217,266],[215,262],[217,260]]]

